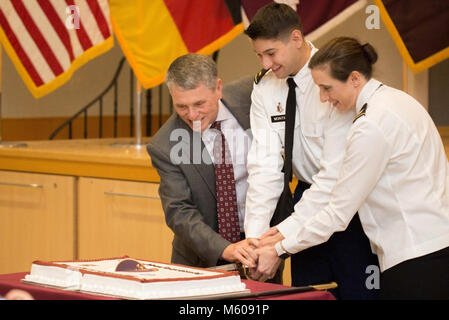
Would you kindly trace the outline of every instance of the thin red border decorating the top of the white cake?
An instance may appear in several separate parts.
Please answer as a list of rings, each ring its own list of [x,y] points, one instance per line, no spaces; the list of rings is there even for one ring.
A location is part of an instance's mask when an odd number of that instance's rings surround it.
[[[194,279],[192,279],[192,278],[138,279],[138,278],[135,278],[135,277],[132,277],[132,276],[118,275],[118,274],[114,274],[114,273],[110,273],[110,272],[96,272],[96,271],[89,271],[89,270],[78,270],[78,271],[81,272],[82,274],[94,274],[94,275],[100,275],[100,276],[107,276],[107,277],[111,277],[111,278],[132,280],[132,281],[137,281],[137,282],[141,282],[141,283],[207,280],[207,279],[224,278],[224,277],[233,276],[233,275],[238,275],[240,277],[240,274],[237,271],[224,271],[224,270],[219,270],[219,269],[214,269],[212,271],[212,270],[209,270],[209,269],[206,269],[206,268],[190,267],[190,266],[185,266],[185,265],[175,264],[175,263],[157,262],[157,261],[151,261],[151,260],[145,260],[145,259],[139,259],[139,258],[131,258],[131,257],[127,256],[127,255],[122,256],[122,257],[103,258],[103,259],[82,259],[82,260],[63,260],[63,261],[41,261],[41,260],[36,260],[36,261],[33,261],[33,264],[42,265],[42,266],[49,266],[49,267],[59,267],[59,268],[69,269],[69,268],[71,268],[71,266],[64,265],[63,263],[95,262],[95,261],[126,259],[126,258],[140,260],[140,261],[145,261],[145,262],[151,262],[151,263],[160,263],[160,264],[165,264],[165,265],[178,266],[178,267],[182,267],[182,268],[196,269],[196,270],[201,270],[201,271],[216,272],[216,273],[220,273],[220,274],[219,275],[214,275],[214,276],[200,276],[200,277],[197,277],[197,278],[194,278]],[[57,263],[60,263],[60,264],[57,264]]]

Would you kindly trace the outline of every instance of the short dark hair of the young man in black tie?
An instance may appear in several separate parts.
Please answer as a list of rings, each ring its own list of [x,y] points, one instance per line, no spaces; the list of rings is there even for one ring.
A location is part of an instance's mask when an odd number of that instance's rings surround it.
[[[271,2],[257,11],[245,34],[252,40],[258,38],[281,40],[295,29],[302,33],[298,13],[286,4]]]

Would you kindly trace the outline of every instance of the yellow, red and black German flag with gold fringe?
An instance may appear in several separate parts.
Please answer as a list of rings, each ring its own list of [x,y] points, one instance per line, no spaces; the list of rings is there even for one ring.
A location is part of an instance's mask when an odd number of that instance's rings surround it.
[[[243,32],[240,1],[109,0],[120,46],[145,88],[164,81],[178,56],[211,54]]]

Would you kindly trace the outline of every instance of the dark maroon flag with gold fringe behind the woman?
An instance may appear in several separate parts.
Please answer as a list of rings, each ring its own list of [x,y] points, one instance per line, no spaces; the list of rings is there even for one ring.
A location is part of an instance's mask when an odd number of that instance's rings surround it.
[[[449,1],[374,0],[402,58],[415,73],[449,57]]]

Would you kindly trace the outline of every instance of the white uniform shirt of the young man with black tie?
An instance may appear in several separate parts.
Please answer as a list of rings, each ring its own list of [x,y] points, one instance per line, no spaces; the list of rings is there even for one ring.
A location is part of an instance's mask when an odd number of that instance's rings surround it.
[[[311,56],[318,50],[312,47]],[[344,141],[354,113],[340,113],[321,103],[308,62],[293,78],[296,87],[296,120],[292,166],[295,176],[312,184],[295,206],[295,221],[278,225],[286,236],[294,233],[296,221],[304,221],[328,202],[337,180],[344,154]],[[253,142],[248,155],[248,192],[246,198],[246,237],[260,237],[269,229],[284,185],[283,166],[285,115],[288,85],[271,72],[254,85],[251,105]]]

